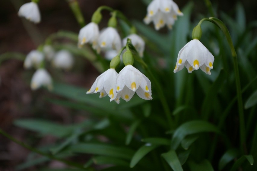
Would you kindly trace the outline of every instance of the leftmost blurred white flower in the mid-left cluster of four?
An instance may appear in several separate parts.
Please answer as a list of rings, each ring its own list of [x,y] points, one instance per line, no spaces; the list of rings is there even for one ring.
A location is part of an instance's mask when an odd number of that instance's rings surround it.
[[[39,68],[41,62],[44,60],[44,54],[38,50],[32,50],[26,56],[24,61],[24,68],[31,68],[34,66],[35,68]]]

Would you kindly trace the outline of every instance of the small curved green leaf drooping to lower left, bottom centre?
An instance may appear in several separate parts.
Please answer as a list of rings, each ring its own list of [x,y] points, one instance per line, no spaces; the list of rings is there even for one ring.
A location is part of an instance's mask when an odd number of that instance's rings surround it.
[[[158,145],[145,144],[139,148],[131,159],[130,167],[134,167],[146,154],[154,150],[156,147],[158,147]]]

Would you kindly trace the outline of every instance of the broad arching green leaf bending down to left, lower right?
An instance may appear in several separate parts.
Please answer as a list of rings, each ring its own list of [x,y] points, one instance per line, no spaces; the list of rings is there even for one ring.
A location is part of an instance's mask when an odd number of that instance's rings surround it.
[[[171,148],[175,150],[187,135],[200,132],[220,133],[219,129],[209,122],[201,120],[189,121],[176,129],[171,140]]]

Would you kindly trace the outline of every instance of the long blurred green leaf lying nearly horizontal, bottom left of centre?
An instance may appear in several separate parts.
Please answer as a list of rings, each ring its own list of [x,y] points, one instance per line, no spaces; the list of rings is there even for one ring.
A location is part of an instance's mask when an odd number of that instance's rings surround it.
[[[134,151],[129,148],[100,143],[74,144],[68,147],[67,151],[71,151],[74,153],[98,154],[103,156],[117,157],[121,159],[131,159],[134,153]]]

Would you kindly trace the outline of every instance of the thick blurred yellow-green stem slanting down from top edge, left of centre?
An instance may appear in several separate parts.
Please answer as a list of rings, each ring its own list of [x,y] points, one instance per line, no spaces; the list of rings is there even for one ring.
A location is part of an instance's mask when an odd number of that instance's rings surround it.
[[[78,1],[77,0],[66,0],[73,12],[73,14],[75,15],[79,25],[81,27],[84,27],[85,25],[85,21],[84,21],[84,17],[82,15],[82,12],[79,8],[79,5],[78,5]]]

